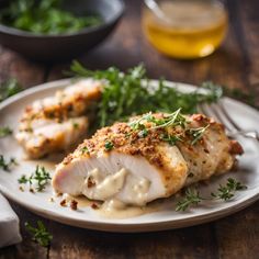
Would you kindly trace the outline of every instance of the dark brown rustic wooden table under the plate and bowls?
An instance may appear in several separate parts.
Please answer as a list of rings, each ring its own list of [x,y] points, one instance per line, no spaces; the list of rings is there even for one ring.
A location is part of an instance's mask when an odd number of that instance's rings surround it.
[[[80,58],[89,68],[126,69],[143,61],[151,78],[201,83],[213,80],[229,88],[255,90],[259,97],[259,1],[228,1],[227,40],[210,57],[178,61],[158,54],[140,32],[138,1],[127,1],[114,34]],[[0,49],[0,77],[14,76],[32,87],[59,79],[69,63],[41,65]],[[184,229],[148,234],[110,234],[69,227],[41,218],[11,203],[21,219],[23,243],[0,249],[0,258],[259,258],[259,202],[226,218]],[[54,239],[48,248],[31,241],[24,222],[43,219]],[[1,236],[0,236],[1,238]]]

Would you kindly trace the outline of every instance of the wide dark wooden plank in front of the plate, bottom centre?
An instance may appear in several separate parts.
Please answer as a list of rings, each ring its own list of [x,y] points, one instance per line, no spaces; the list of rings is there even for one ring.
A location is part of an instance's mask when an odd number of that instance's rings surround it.
[[[114,234],[52,224],[56,235],[49,257],[218,258],[212,228],[207,225],[158,233]]]

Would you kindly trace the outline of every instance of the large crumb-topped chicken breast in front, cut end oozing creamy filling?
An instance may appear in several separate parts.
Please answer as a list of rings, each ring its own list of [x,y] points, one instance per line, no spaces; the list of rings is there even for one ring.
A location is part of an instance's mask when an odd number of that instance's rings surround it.
[[[86,139],[56,168],[56,192],[145,205],[232,169],[240,145],[201,114],[146,114]]]

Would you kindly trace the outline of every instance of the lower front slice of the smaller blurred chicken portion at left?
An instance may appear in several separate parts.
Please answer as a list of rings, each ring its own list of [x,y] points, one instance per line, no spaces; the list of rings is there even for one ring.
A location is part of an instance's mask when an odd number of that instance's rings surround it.
[[[41,158],[75,148],[86,136],[88,124],[87,116],[68,119],[61,123],[37,119],[31,122],[30,130],[20,130],[16,139],[30,158]]]

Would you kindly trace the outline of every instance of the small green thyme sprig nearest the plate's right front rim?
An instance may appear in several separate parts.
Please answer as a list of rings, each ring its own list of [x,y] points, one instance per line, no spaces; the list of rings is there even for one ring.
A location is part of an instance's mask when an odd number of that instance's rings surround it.
[[[241,191],[245,189],[247,189],[246,185],[241,184],[233,178],[228,178],[227,183],[225,185],[219,184],[217,193],[212,192],[211,195],[215,199],[228,201],[235,195],[236,191]]]

